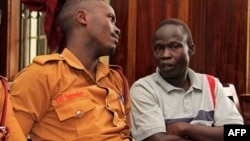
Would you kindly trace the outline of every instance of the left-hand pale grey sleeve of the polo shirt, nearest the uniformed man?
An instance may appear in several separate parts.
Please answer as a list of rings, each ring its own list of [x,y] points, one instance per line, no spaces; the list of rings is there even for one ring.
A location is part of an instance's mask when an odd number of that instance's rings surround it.
[[[143,81],[137,81],[130,89],[132,135],[138,141],[166,132],[164,117],[154,93],[152,86]]]

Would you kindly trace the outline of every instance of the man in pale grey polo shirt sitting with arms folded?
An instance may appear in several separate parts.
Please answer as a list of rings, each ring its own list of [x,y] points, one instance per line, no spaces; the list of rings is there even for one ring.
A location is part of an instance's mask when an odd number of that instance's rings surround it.
[[[153,43],[156,72],[130,89],[136,141],[223,141],[223,125],[243,124],[219,79],[212,77],[211,91],[208,75],[189,68],[195,46],[185,23],[162,21]]]

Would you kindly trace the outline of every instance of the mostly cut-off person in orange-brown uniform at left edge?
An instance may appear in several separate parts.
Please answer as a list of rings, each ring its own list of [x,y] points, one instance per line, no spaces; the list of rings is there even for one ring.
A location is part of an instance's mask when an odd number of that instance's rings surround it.
[[[10,99],[5,95],[7,89],[7,81],[4,77],[0,76],[0,122],[4,126],[0,126],[0,140],[5,137],[6,141],[26,141],[26,138],[18,124],[16,117],[14,116],[12,105]],[[2,83],[2,81],[6,82]],[[6,87],[6,88],[5,88]],[[5,117],[2,117],[4,112],[4,104],[6,104],[6,114]],[[4,120],[5,118],[5,120]],[[5,121],[3,123],[3,121]],[[5,132],[6,131],[6,132]]]

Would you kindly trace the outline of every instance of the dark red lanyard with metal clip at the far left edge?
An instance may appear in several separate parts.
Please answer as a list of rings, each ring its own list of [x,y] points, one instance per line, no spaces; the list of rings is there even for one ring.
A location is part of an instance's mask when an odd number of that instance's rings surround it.
[[[4,88],[4,101],[3,101],[3,108],[2,108],[2,115],[1,115],[1,122],[0,122],[0,132],[3,134],[3,137],[1,138],[1,140],[5,141],[6,138],[9,136],[9,129],[5,127],[7,105],[8,105],[8,86],[7,86],[7,82],[5,78],[0,76],[0,80]]]

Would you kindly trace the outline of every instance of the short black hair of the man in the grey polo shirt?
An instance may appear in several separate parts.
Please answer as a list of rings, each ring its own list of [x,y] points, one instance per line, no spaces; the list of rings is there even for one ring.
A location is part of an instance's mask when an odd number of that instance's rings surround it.
[[[183,21],[181,21],[179,19],[174,19],[174,18],[165,19],[165,20],[161,21],[157,25],[155,33],[158,31],[159,28],[161,28],[161,27],[163,27],[165,25],[177,25],[177,26],[181,26],[182,29],[183,29],[183,33],[187,34],[187,44],[188,44],[188,46],[193,45],[193,37],[192,37],[191,31],[190,31],[188,25],[185,24]],[[153,42],[155,42],[155,40],[156,40],[156,36],[154,35]]]

